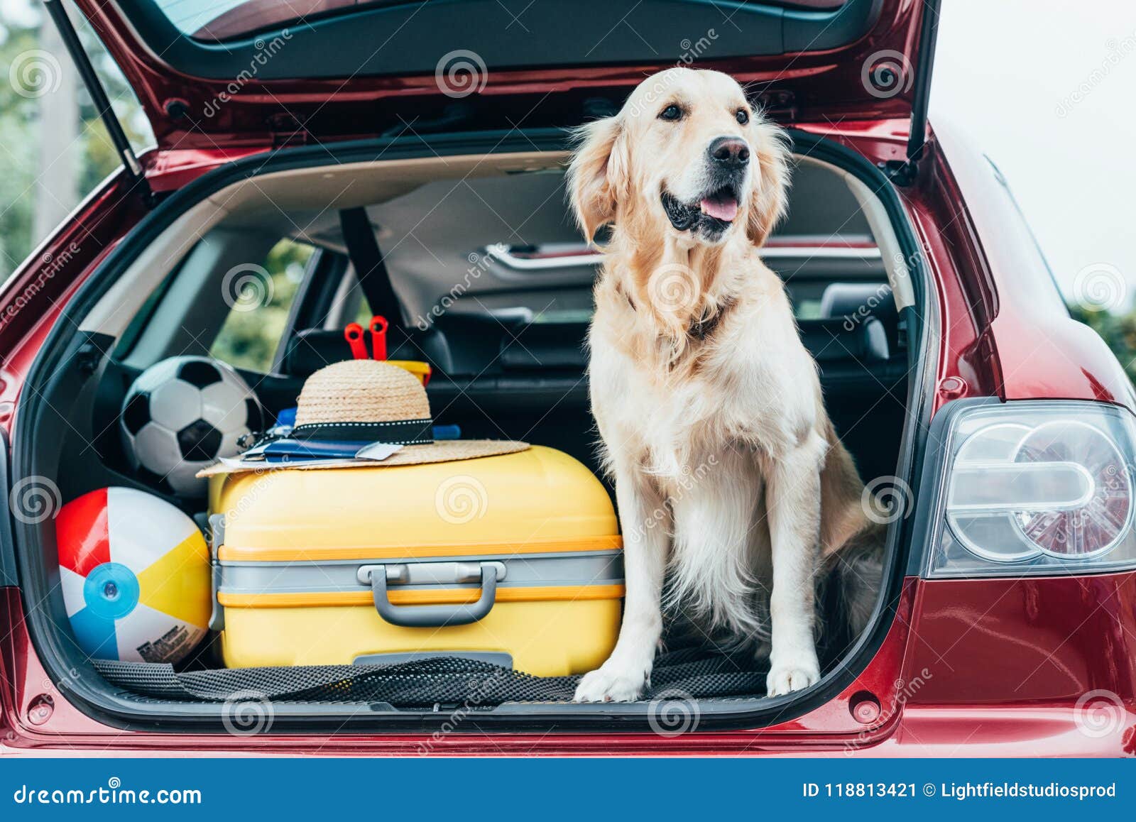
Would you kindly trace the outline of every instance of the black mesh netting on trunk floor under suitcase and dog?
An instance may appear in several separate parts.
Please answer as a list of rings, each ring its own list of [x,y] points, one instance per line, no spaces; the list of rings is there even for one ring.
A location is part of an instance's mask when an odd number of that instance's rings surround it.
[[[436,656],[385,665],[231,668],[177,672],[173,665],[94,661],[108,682],[140,696],[181,702],[227,702],[254,693],[273,702],[386,703],[395,707],[470,703],[568,702],[578,676],[533,677],[487,662]],[[702,648],[660,655],[643,699],[755,696],[768,668],[752,653]]]

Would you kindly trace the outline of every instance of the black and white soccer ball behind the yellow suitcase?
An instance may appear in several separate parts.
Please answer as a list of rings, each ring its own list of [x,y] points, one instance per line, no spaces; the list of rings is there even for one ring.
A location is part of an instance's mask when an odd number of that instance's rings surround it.
[[[204,496],[193,475],[264,428],[264,409],[241,376],[207,357],[172,357],[139,375],[123,402],[120,430],[139,477],[167,494]]]

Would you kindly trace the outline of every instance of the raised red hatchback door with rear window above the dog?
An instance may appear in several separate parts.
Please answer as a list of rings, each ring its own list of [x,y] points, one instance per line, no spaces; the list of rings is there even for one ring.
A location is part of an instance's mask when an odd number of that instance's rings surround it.
[[[563,125],[675,65],[752,83],[784,121],[907,117],[937,16],[937,0],[76,3],[159,145],[208,149]]]

